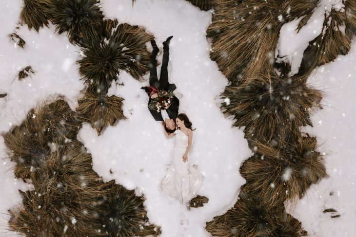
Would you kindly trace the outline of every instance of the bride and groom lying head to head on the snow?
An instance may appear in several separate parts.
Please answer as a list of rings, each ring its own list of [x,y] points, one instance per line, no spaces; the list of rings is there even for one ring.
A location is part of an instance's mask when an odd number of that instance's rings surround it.
[[[142,87],[149,96],[148,104],[154,100],[161,103],[161,91],[174,91],[175,84],[168,82],[168,60],[170,36],[163,42],[163,59],[161,73],[157,77],[157,59],[159,49],[156,41],[151,40],[153,47],[150,68],[149,87]],[[173,150],[173,169],[161,181],[161,187],[166,194],[177,198],[180,203],[189,205],[188,202],[196,196],[196,192],[201,186],[202,176],[193,167],[188,157],[188,152],[192,145],[193,130],[192,123],[184,113],[178,114],[179,100],[172,95],[169,100],[164,100],[162,107],[150,109],[156,121],[162,121],[162,127],[167,138],[176,136],[176,143]],[[150,108],[150,106],[149,106]]]

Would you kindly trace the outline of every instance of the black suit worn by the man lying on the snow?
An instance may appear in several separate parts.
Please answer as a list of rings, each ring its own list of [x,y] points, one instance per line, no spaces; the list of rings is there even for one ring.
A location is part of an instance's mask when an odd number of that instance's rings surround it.
[[[150,68],[150,88],[155,88],[156,90],[170,90],[174,91],[176,90],[176,85],[175,84],[169,84],[168,82],[168,60],[169,60],[169,46],[168,43],[163,42],[163,60],[162,60],[162,67],[161,67],[161,74],[159,77],[157,77],[157,59],[156,56],[158,54],[158,48],[154,48],[152,51],[151,55],[151,62],[149,64]],[[156,46],[157,47],[157,46]],[[150,88],[149,87],[141,87],[141,89],[145,90],[148,96],[150,96]],[[151,97],[149,97],[148,103],[151,102]],[[176,120],[177,115],[178,115],[178,108],[179,108],[179,100],[176,96],[174,96],[171,99],[171,105],[166,109],[168,116]],[[161,112],[157,112],[156,110],[150,110],[153,118],[156,121],[163,121]]]

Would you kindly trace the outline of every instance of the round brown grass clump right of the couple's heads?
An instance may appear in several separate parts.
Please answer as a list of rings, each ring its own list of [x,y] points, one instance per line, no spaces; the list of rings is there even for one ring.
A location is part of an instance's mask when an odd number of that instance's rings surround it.
[[[251,148],[256,142],[288,146],[301,136],[300,126],[312,126],[308,109],[319,106],[322,92],[306,85],[307,76],[289,77],[289,71],[284,64],[280,72],[265,73],[248,85],[227,86],[222,93],[223,113],[233,116],[234,126],[245,126]]]

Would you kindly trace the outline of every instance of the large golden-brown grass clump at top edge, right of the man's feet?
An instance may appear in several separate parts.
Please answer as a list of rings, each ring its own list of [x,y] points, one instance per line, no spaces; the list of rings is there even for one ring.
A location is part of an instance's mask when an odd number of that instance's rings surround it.
[[[249,83],[273,67],[282,24],[308,15],[317,1],[212,0],[211,59],[233,83]]]

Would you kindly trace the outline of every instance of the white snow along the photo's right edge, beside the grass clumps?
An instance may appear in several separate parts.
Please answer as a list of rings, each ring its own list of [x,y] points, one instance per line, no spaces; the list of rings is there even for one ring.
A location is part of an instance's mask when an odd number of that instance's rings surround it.
[[[312,116],[318,151],[324,154],[330,178],[312,185],[290,213],[313,237],[356,236],[356,41],[348,55],[316,69],[309,83],[326,92],[323,109]],[[322,123],[318,123],[322,121]],[[334,194],[330,196],[330,192]],[[336,213],[323,213],[334,208]],[[331,218],[340,215],[339,218]]]

